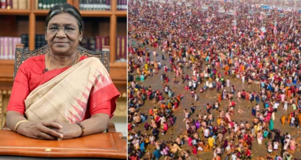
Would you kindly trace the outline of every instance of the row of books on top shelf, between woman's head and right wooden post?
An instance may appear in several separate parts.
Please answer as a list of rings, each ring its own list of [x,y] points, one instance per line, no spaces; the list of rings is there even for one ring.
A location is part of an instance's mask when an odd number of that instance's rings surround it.
[[[80,0],[80,10],[111,10],[111,0]]]

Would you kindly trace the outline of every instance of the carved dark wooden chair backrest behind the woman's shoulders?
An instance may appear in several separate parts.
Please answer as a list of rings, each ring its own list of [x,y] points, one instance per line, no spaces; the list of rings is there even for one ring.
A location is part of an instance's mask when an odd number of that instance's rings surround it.
[[[15,67],[14,67],[14,79],[18,72],[20,65],[30,57],[39,56],[42,54],[46,54],[50,52],[50,48],[48,45],[44,45],[36,50],[29,51],[26,47],[24,48],[24,44],[17,44],[16,45],[16,53],[15,53]],[[80,55],[84,55],[86,57],[97,57],[104,65],[104,67],[109,72],[110,68],[110,50],[109,46],[103,46],[102,51],[96,49],[95,51],[89,51],[82,46],[78,45],[76,48],[76,52]]]

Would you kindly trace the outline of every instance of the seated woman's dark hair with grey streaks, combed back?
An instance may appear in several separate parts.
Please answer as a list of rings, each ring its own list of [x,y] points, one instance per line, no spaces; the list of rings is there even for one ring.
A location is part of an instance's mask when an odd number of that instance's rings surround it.
[[[77,24],[79,26],[79,31],[84,30],[84,22],[82,21],[82,15],[79,13],[79,11],[75,7],[73,7],[72,5],[70,5],[68,3],[57,4],[50,9],[50,11],[48,12],[48,14],[46,16],[46,27],[48,27],[48,22],[52,17],[54,17],[57,14],[62,14],[62,13],[69,13],[69,14],[73,15],[77,20]]]

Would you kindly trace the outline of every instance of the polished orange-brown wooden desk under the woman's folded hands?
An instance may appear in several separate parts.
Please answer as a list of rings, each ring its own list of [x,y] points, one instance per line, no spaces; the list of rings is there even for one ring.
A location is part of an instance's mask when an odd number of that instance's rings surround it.
[[[69,140],[38,140],[0,130],[0,155],[126,159],[127,145],[121,136],[118,132],[107,132]]]

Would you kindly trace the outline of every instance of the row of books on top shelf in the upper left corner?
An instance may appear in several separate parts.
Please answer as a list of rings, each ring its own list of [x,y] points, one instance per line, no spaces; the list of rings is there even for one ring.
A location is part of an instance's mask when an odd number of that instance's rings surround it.
[[[29,9],[30,0],[0,0],[1,9]]]

